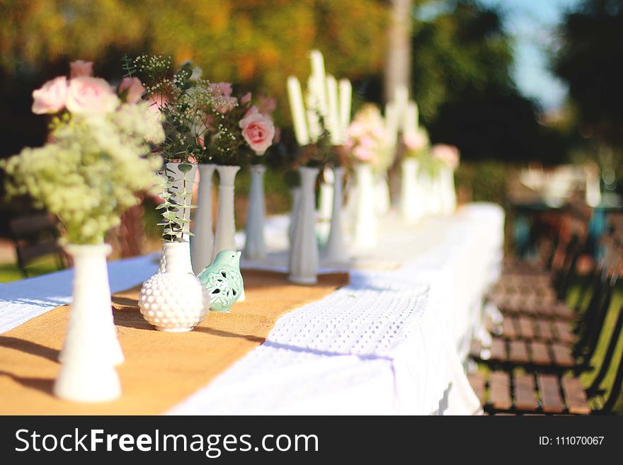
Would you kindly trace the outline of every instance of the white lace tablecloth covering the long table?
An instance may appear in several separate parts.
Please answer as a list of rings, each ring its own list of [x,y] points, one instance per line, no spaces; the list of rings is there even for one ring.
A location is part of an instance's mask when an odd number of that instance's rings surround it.
[[[355,255],[394,269],[352,271],[350,285],[282,316],[263,345],[168,413],[477,413],[462,360],[501,259],[503,221],[488,204],[412,227],[389,217],[379,247]],[[270,221],[269,245],[282,246],[286,228]],[[110,287],[156,268],[154,256],[111,262]],[[69,302],[71,280],[67,270],[0,285],[0,333]]]

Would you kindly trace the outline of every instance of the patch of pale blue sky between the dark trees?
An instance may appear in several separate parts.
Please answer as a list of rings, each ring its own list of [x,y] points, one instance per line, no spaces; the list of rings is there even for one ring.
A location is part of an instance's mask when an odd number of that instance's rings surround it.
[[[504,27],[514,40],[513,76],[520,91],[534,98],[544,110],[559,108],[566,99],[567,88],[549,71],[547,50],[556,39],[556,27],[564,13],[581,4],[581,0],[480,0],[480,3],[498,7],[505,13]],[[434,5],[431,12],[438,9]]]

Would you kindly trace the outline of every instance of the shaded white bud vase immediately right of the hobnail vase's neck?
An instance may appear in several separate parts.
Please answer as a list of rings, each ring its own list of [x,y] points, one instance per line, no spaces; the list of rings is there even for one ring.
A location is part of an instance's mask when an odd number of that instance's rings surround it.
[[[190,257],[193,271],[198,275],[212,263],[214,233],[212,232],[212,177],[216,165],[201,163],[199,170],[198,209],[195,210],[194,234],[190,239]]]

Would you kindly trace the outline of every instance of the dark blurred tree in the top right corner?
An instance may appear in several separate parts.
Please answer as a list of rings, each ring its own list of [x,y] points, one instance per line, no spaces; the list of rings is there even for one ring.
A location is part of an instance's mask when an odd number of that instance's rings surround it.
[[[582,137],[623,147],[623,3],[585,0],[566,14],[554,71],[569,86]]]

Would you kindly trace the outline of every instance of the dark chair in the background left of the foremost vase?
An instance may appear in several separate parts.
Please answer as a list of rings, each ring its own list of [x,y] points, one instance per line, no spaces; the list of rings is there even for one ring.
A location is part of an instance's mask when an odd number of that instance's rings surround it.
[[[64,268],[64,254],[58,244],[56,222],[47,214],[29,214],[11,220],[9,229],[15,243],[17,264],[28,277],[28,264],[36,258],[54,255],[59,268]]]

